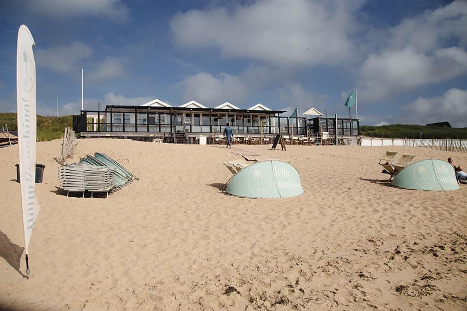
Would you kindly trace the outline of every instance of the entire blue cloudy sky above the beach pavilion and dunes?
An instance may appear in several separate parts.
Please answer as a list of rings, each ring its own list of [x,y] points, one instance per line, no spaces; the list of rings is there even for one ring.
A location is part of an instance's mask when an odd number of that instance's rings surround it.
[[[34,40],[37,112],[257,103],[361,124],[467,127],[467,1],[0,0],[0,111],[16,110],[16,41]],[[352,108],[355,117],[355,107]]]

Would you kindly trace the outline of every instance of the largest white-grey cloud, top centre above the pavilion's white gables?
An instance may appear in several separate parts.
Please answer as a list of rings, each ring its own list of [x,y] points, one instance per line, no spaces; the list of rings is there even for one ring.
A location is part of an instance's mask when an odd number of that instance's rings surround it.
[[[356,8],[348,1],[257,1],[177,14],[170,28],[181,47],[274,64],[337,64],[351,57]]]

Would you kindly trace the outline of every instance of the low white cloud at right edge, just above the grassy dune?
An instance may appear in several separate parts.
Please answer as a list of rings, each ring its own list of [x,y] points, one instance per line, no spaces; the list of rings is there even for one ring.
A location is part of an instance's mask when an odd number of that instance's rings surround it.
[[[440,97],[420,97],[403,107],[408,123],[448,121],[453,127],[467,127],[467,90],[451,89]]]

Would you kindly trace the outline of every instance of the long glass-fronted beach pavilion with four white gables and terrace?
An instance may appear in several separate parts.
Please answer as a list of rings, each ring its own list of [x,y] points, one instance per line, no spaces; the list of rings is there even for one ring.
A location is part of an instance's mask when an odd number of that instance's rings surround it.
[[[223,136],[227,123],[239,141],[253,138],[267,142],[278,133],[286,139],[305,138],[319,131],[334,137],[336,128],[340,137],[359,135],[357,119],[286,117],[284,112],[262,104],[240,109],[229,102],[208,108],[194,100],[172,107],[155,99],[140,106],[107,105],[104,111],[83,110],[73,117],[73,128],[83,138],[160,138],[168,143],[191,144],[199,144],[202,137],[212,144]]]

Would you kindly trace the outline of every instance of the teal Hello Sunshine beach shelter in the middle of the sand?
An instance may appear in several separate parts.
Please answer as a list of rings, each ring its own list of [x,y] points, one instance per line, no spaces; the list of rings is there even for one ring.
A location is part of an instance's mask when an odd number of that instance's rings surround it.
[[[276,159],[243,168],[229,180],[226,192],[245,198],[289,198],[304,193],[295,166]]]

